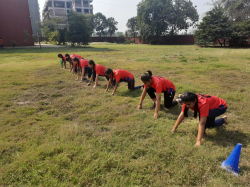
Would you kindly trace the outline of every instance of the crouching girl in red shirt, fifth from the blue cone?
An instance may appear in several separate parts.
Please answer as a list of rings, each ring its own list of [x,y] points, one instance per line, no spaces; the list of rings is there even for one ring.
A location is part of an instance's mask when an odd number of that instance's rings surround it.
[[[85,77],[86,73],[88,74],[89,78],[91,77],[92,70],[91,70],[91,68],[88,67],[88,60],[79,59],[77,57],[74,57],[73,58],[73,65],[77,69],[77,79],[76,80],[79,80],[80,72],[82,73],[80,82],[82,82],[83,80],[87,80],[87,78]]]

